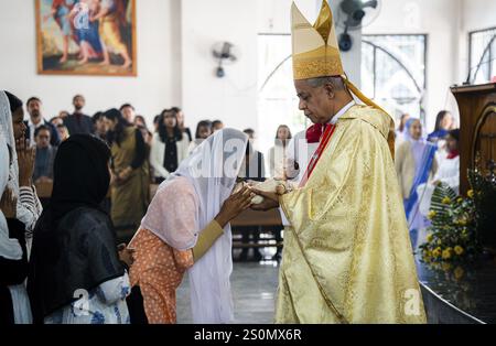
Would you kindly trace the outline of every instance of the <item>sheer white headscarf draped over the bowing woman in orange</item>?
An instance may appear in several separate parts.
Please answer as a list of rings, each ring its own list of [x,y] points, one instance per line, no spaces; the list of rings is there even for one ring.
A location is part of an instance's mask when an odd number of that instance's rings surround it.
[[[179,236],[174,227],[166,227],[171,220],[148,217],[154,203],[150,205],[142,226],[172,247],[184,250],[195,246],[197,231],[204,229],[220,210],[236,184],[248,142],[248,137],[234,129],[223,129],[195,148],[177,170],[161,184],[159,191],[177,177],[185,177],[194,187],[197,215],[192,223],[197,229]],[[177,197],[180,198],[180,197]],[[177,203],[170,201],[170,203]],[[157,205],[157,208],[159,206]],[[157,209],[155,212],[158,212]],[[163,214],[162,214],[163,215]],[[184,215],[175,216],[177,219]],[[224,228],[224,235],[188,271],[191,305],[194,323],[229,323],[233,321],[233,298],[229,277],[233,272],[233,237],[230,225]]]

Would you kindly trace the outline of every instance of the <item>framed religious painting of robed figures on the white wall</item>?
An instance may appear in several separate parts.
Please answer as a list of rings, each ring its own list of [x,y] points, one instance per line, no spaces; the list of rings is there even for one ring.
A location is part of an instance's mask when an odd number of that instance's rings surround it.
[[[136,0],[35,0],[37,73],[136,76]]]

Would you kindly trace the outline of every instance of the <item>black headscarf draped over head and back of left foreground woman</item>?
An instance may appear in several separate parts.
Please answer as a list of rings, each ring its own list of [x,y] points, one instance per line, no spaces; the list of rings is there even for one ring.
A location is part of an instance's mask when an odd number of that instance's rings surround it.
[[[64,141],[54,162],[51,203],[34,229],[28,291],[33,317],[43,317],[100,283],[121,277],[123,267],[108,215],[100,208],[110,182],[107,144],[89,134]]]

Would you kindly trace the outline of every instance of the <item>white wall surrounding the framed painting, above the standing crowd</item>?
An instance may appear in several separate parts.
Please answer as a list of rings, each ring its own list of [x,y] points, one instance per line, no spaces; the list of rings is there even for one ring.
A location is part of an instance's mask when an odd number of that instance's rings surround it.
[[[129,101],[151,121],[181,102],[180,2],[138,0],[138,77],[94,77],[37,75],[34,1],[0,0],[0,88],[23,100],[39,96],[45,118],[72,110],[72,97],[83,94],[87,113]]]

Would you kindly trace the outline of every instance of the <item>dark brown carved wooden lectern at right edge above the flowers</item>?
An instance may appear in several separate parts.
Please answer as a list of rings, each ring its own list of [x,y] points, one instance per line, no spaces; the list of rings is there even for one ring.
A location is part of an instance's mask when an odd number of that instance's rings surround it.
[[[488,167],[496,161],[496,83],[455,86],[451,91],[460,109],[460,192],[470,190],[467,169],[476,154]]]

